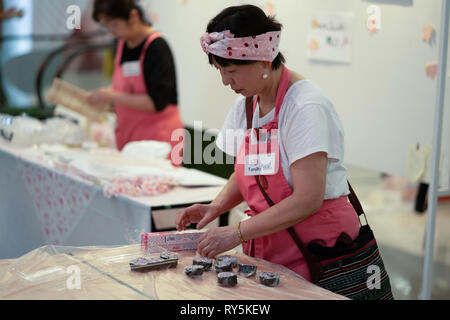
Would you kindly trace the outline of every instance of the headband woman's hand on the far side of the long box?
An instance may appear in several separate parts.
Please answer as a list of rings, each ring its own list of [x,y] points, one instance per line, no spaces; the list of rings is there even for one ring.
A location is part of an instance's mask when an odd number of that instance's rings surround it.
[[[186,226],[197,223],[200,230],[218,216],[218,212],[211,204],[194,204],[177,213],[175,225],[178,231],[186,230]]]

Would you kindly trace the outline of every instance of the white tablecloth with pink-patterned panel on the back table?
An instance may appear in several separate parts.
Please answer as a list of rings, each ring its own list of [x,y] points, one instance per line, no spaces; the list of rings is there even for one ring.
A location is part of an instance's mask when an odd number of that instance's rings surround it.
[[[141,232],[152,231],[152,209],[173,214],[173,208],[211,201],[222,188],[178,186],[154,197],[108,198],[100,186],[34,161],[24,150],[0,143],[1,259],[46,244],[138,243]]]

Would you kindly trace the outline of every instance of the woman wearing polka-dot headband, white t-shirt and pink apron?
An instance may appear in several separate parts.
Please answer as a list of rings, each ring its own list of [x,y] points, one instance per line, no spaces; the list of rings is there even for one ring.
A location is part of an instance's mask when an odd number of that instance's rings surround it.
[[[178,212],[175,223],[178,230],[192,222],[201,229],[246,201],[249,219],[209,228],[199,239],[199,253],[214,257],[242,243],[247,255],[310,280],[305,258],[286,229],[293,227],[305,244],[320,239],[334,246],[342,232],[356,238],[359,222],[347,198],[341,123],[321,91],[284,66],[280,30],[250,5],[227,8],[208,24],[202,48],[223,84],[244,96],[216,140],[236,157],[235,171],[211,204]],[[231,148],[227,129],[245,132],[232,139]],[[275,205],[268,205],[255,176]]]

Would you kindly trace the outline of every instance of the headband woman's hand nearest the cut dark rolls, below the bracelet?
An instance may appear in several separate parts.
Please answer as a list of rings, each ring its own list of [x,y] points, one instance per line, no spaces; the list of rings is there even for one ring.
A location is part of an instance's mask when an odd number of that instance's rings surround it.
[[[236,226],[208,229],[198,239],[198,253],[207,258],[231,250],[241,243]]]

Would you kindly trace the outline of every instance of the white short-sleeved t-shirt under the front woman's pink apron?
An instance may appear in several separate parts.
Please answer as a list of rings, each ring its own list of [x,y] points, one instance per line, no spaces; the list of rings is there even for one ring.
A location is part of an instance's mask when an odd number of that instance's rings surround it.
[[[253,128],[269,123],[273,108],[259,117],[259,106],[253,115]],[[245,97],[239,97],[219,132],[216,144],[225,153],[236,156],[247,128]],[[295,82],[286,92],[278,115],[281,167],[292,188],[290,165],[315,152],[328,157],[324,199],[349,194],[344,160],[344,129],[332,102],[310,80]]]

